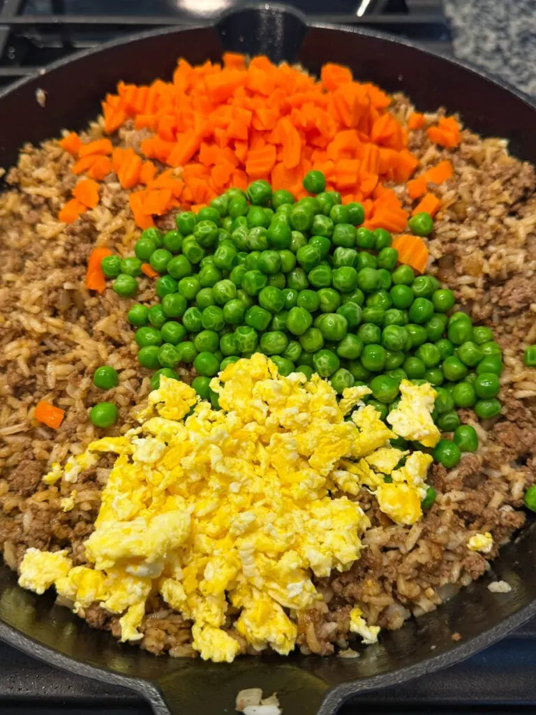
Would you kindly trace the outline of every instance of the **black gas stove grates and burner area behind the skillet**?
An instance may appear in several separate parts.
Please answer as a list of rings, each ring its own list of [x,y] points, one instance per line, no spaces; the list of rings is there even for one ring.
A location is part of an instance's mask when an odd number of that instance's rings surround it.
[[[208,21],[247,0],[4,0],[0,86],[115,37]],[[364,26],[450,54],[441,0],[292,0],[309,21]],[[91,14],[87,14],[91,9]]]

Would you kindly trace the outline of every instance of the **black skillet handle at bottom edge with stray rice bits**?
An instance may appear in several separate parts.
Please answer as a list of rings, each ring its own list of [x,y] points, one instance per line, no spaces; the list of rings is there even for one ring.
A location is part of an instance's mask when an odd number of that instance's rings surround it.
[[[232,715],[237,694],[246,688],[262,688],[264,697],[277,692],[284,715],[317,715],[320,711],[332,715],[340,705],[338,699],[324,703],[328,684],[292,662],[248,658],[238,659],[232,666],[189,662],[181,672],[159,681],[167,711],[154,710],[158,715]]]

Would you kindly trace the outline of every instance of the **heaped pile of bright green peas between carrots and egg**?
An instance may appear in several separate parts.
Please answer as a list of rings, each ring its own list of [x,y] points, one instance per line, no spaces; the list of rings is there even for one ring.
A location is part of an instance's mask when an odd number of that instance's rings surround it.
[[[179,363],[193,365],[194,389],[217,406],[210,379],[263,352],[282,375],[315,372],[337,393],[368,385],[383,419],[402,380],[431,383],[435,423],[453,433],[433,455],[454,467],[478,445],[456,409],[481,419],[500,413],[502,355],[492,331],[452,313],[455,296],[435,277],[399,265],[390,233],[362,226],[362,205],[343,206],[321,172],[303,185],[316,195],[295,201],[260,180],[247,192],[229,189],[197,215],[177,215],[175,230],[144,230],[134,257],[102,260],[121,297],[137,292],[143,262],[160,274],[157,305],[129,310],[140,364],[156,370],[153,388],[161,375],[177,378]],[[417,215],[410,229],[429,235],[432,218]]]

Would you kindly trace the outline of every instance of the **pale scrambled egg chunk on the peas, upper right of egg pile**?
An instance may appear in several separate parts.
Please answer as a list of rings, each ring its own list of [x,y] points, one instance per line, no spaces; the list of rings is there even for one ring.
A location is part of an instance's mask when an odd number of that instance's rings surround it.
[[[400,437],[435,447],[441,437],[432,420],[436,391],[430,383],[413,385],[410,380],[402,380],[400,393],[398,408],[387,415],[387,422]]]

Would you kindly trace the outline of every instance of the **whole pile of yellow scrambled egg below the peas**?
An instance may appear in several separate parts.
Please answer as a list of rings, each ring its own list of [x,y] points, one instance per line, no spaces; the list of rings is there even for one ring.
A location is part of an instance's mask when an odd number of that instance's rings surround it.
[[[19,583],[37,593],[54,585],[74,611],[96,602],[121,614],[123,641],[143,638],[145,603],[160,593],[192,620],[194,649],[214,661],[239,651],[231,606],[249,646],[288,654],[297,613],[321,599],[312,575],[346,571],[359,558],[369,519],[347,495],[369,489],[397,523],[422,516],[432,458],[389,440],[435,444],[435,393],[407,383],[393,431],[362,402],[368,388],[344,390],[337,403],[318,375],[284,378],[260,354],[229,365],[211,387],[221,410],[162,378],[138,428],[96,440],[64,471],[53,465],[47,483],[72,483],[96,453],[117,455],[85,543],[90,566],[28,549]],[[354,608],[352,631],[374,642],[379,628]]]

